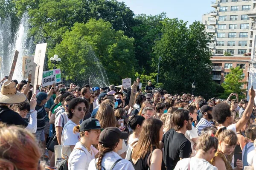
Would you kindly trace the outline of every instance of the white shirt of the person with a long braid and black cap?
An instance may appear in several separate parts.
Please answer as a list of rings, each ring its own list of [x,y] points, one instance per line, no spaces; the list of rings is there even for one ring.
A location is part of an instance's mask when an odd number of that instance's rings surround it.
[[[122,158],[117,153],[113,151],[108,152],[103,156],[101,165],[102,167],[105,167],[106,170],[109,170],[118,159],[122,159]],[[95,159],[90,161],[88,170],[97,170],[97,168],[95,167],[94,161]],[[116,165],[113,167],[113,170],[134,170],[134,167],[132,166],[130,161],[126,159],[122,159],[116,163]]]

